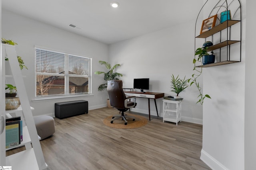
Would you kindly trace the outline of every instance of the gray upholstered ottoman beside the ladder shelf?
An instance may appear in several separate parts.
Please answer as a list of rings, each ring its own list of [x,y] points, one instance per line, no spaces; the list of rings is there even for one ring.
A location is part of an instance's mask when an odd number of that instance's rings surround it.
[[[54,119],[47,115],[34,117],[37,134],[45,139],[55,132]]]

